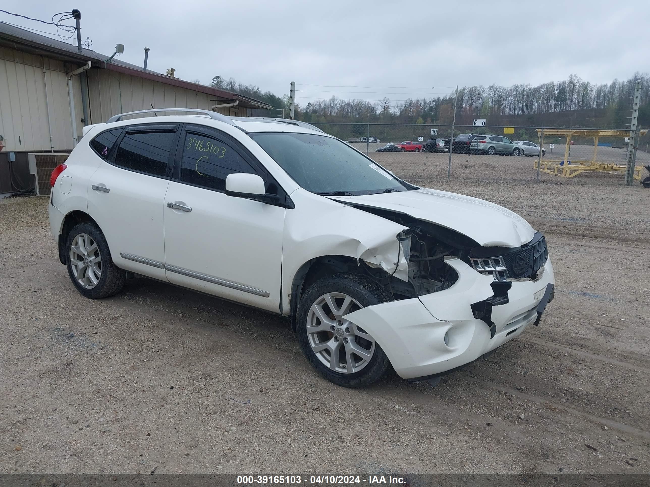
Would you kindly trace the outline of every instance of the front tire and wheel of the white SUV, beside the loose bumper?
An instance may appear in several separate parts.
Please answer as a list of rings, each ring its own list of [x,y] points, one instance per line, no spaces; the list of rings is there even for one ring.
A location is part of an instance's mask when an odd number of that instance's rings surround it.
[[[388,357],[370,334],[344,315],[393,297],[371,279],[335,274],[315,282],[298,304],[298,343],[305,358],[325,379],[343,387],[364,387],[380,380]]]

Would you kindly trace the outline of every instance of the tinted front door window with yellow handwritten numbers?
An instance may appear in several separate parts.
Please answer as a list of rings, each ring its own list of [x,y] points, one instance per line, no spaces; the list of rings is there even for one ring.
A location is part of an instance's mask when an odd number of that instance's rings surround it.
[[[205,135],[185,134],[181,181],[226,191],[226,176],[231,173],[257,174],[226,142]]]

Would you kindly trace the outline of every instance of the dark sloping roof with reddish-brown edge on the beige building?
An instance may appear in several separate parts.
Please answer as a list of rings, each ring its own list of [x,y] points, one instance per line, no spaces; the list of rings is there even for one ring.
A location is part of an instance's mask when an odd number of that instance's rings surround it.
[[[81,53],[77,51],[77,46],[68,44],[57,39],[52,39],[36,32],[21,29],[15,25],[8,24],[0,21],[0,45],[18,49],[19,51],[26,51],[37,55],[47,55],[48,57],[59,59],[67,62],[85,63],[92,61],[93,66],[110,71],[118,71],[121,73],[159,81],[164,84],[171,84],[195,92],[201,92],[208,95],[213,95],[221,98],[222,100],[239,100],[239,106],[243,108],[273,108],[267,103],[240,95],[234,92],[221,90],[220,88],[213,88],[212,86],[205,86],[203,84],[193,83],[190,81],[183,81],[182,79],[172,78],[170,76],[151,71],[151,69],[142,69],[142,66],[136,66],[128,62],[120,61],[119,59],[112,58],[107,62],[110,56],[98,53],[92,49],[82,48]]]

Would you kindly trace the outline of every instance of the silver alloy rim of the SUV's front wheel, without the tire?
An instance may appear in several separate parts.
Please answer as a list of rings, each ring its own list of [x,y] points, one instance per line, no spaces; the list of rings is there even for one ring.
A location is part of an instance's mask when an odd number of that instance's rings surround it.
[[[354,373],[370,363],[376,342],[363,328],[343,316],[359,310],[356,299],[344,293],[320,296],[307,314],[307,338],[318,360],[339,373]]]

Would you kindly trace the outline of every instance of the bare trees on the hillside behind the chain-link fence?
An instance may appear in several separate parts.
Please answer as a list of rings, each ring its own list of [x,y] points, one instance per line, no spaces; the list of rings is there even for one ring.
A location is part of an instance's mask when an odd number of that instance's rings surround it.
[[[634,73],[625,81],[615,79],[611,83],[592,84],[578,75],[570,75],[563,81],[550,81],[531,86],[513,84],[506,88],[497,84],[490,86],[463,86],[454,94],[443,97],[409,98],[393,102],[389,97],[370,102],[359,99],[330,99],[296,104],[296,119],[318,122],[380,122],[380,123],[452,123],[456,101],[456,123],[470,125],[474,118],[485,118],[488,123],[502,125],[564,126],[567,121],[576,127],[625,128],[630,116],[630,95],[637,80],[642,82],[642,103],[639,122],[650,124],[650,76]],[[215,76],[211,86],[246,95],[269,105],[268,110],[254,110],[254,116],[282,116],[288,118],[289,97],[278,97],[263,92],[258,86],[242,84],[233,78]],[[645,95],[644,95],[645,94]],[[555,115],[554,115],[555,114]]]

